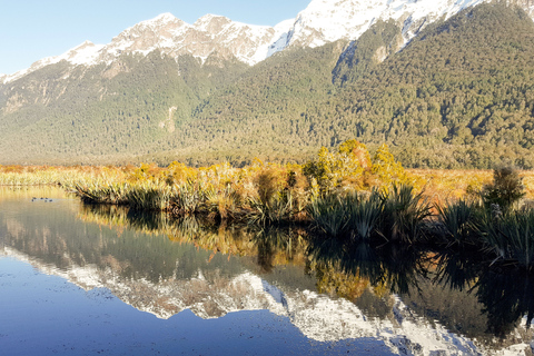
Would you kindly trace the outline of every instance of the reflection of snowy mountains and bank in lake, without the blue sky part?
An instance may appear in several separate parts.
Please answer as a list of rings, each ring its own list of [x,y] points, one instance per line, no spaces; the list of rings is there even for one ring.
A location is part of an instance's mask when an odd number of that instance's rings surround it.
[[[393,354],[532,353],[532,275],[473,254],[347,246],[301,228],[174,220],[75,199],[44,206],[33,194],[0,192],[0,250],[159,318],[266,309],[317,342],[373,338]]]

